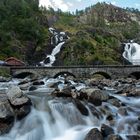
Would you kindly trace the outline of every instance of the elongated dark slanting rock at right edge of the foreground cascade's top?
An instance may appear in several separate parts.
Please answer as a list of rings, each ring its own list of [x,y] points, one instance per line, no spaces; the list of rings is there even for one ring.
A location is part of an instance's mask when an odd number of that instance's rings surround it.
[[[89,115],[88,109],[84,106],[84,104],[81,101],[74,99],[74,104],[76,105],[77,109],[80,111],[82,115],[85,116]]]

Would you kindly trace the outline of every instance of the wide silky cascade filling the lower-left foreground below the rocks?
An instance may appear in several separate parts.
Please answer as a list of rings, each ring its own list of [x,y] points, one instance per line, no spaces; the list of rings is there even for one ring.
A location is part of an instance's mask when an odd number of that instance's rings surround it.
[[[47,101],[44,97],[39,105],[43,108],[33,108],[25,120],[17,122],[0,140],[83,140],[91,127],[86,126],[90,118],[84,118],[73,103]]]

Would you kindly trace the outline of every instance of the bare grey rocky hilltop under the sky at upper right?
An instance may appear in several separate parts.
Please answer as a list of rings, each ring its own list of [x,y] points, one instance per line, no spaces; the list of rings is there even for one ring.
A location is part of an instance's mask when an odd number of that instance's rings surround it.
[[[135,9],[122,9],[112,4],[98,3],[86,8],[85,12],[79,16],[79,21],[84,24],[95,24],[101,19],[105,24],[110,22],[140,22],[140,13]]]

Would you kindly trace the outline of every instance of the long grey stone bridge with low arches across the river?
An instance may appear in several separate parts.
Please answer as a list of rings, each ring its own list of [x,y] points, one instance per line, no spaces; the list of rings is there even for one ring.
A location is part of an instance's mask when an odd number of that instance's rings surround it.
[[[140,66],[132,65],[99,65],[99,66],[53,66],[53,67],[11,67],[11,75],[34,74],[36,76],[57,77],[67,74],[76,78],[90,78],[94,74],[101,74],[105,78],[136,77],[140,78]]]

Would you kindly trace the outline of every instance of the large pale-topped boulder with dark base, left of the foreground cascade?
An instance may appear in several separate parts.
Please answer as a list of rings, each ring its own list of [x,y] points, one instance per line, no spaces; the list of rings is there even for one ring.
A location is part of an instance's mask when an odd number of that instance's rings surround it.
[[[7,92],[7,97],[15,111],[17,119],[22,119],[30,112],[31,101],[28,97],[23,95],[19,87],[10,87]]]

